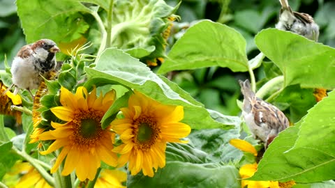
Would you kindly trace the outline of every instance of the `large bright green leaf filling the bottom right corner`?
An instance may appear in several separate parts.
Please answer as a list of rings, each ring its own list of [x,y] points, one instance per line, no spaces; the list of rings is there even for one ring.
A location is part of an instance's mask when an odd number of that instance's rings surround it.
[[[308,111],[299,126],[279,134],[252,180],[321,182],[335,174],[335,92]]]

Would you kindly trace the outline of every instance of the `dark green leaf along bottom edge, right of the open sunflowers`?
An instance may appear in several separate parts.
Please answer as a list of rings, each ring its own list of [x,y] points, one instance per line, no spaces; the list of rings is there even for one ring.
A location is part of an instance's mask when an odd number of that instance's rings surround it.
[[[164,178],[162,178],[164,177]],[[154,178],[128,175],[127,187],[241,187],[239,172],[234,166],[167,162]]]

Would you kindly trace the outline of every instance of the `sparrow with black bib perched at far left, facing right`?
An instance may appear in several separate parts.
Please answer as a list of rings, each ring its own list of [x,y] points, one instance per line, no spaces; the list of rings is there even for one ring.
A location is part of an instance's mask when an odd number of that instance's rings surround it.
[[[43,77],[47,77],[49,72],[56,68],[57,52],[60,50],[56,43],[49,39],[38,40],[22,47],[14,57],[10,69],[12,86],[15,86],[14,95],[18,93],[19,88],[27,89],[29,93],[38,88]],[[31,95],[34,98],[32,93]]]

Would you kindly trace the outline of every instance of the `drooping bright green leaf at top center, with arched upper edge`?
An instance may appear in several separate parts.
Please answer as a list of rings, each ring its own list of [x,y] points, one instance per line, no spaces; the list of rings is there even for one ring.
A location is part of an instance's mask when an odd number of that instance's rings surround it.
[[[248,70],[246,40],[234,29],[204,20],[191,26],[173,45],[158,73],[211,66]]]

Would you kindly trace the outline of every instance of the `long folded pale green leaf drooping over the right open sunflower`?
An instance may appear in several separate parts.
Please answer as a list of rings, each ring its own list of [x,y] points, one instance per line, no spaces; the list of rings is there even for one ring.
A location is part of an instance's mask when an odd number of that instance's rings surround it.
[[[183,122],[194,129],[228,127],[213,120],[203,104],[194,100],[177,84],[165,77],[158,77],[138,59],[119,49],[106,49],[96,60],[96,68],[85,70],[89,79],[103,78],[110,84],[117,83],[134,88],[164,104],[184,106]]]

